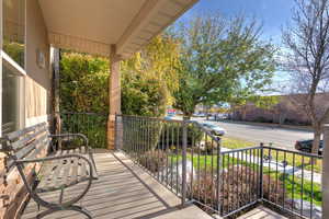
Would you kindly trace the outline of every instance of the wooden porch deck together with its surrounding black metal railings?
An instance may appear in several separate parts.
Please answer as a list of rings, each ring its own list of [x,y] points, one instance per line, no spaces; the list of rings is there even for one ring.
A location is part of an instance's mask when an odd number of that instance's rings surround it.
[[[92,147],[106,147],[105,132],[95,137],[89,131],[105,130],[105,118],[106,115],[61,114],[63,131],[83,132]],[[303,168],[298,170],[295,161],[294,166],[282,166],[260,157],[273,157],[275,161],[283,152],[284,158],[294,155],[305,161],[320,158],[266,147],[220,152],[220,139],[197,124],[180,120],[116,116],[116,138],[122,139],[116,141],[118,150],[94,149],[100,178],[93,181],[89,193],[78,203],[93,218],[317,218],[313,201],[320,192],[315,177],[309,178]],[[317,175],[314,171],[310,174]],[[311,183],[310,188],[307,182]],[[293,187],[293,193],[288,187]],[[69,199],[80,189],[83,184],[68,188],[64,197]],[[303,210],[306,205],[302,199],[295,199],[300,194],[305,203],[310,200],[310,211]],[[59,193],[43,197],[56,203]],[[269,204],[276,212],[260,203]],[[298,204],[302,208],[297,209]],[[30,200],[22,218],[35,218],[44,210]],[[59,216],[82,218],[73,211],[58,211],[49,218]]]

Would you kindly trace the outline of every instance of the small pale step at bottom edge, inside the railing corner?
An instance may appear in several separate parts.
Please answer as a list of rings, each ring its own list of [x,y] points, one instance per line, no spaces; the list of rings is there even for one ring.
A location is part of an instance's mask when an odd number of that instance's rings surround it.
[[[279,215],[277,212],[274,212],[273,210],[270,210],[264,206],[259,206],[253,210],[250,210],[249,212],[238,217],[238,219],[260,219],[260,218],[261,219],[287,219],[286,217]]]

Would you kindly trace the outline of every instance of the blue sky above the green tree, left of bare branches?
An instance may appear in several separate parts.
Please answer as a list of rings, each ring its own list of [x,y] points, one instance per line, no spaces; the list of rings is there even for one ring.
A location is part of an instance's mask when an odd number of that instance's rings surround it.
[[[262,38],[272,39],[272,43],[281,45],[281,31],[292,18],[294,0],[200,0],[179,21],[186,21],[195,13],[215,11],[225,16],[234,16],[243,13],[262,22]],[[275,72],[274,87],[287,84],[286,72]]]

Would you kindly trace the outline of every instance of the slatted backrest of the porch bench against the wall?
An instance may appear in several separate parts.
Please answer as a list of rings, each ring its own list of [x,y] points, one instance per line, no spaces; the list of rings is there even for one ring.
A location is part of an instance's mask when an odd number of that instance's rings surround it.
[[[14,166],[15,159],[35,159],[43,150],[48,151],[50,138],[48,125],[41,123],[21,130],[5,134],[2,150],[8,154],[5,169]]]

